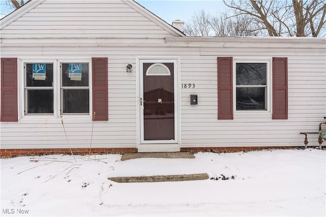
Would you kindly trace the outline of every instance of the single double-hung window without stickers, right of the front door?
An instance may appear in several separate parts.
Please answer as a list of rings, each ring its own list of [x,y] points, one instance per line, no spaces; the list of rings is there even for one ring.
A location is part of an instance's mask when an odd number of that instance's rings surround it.
[[[235,60],[235,111],[269,111],[269,60]]]

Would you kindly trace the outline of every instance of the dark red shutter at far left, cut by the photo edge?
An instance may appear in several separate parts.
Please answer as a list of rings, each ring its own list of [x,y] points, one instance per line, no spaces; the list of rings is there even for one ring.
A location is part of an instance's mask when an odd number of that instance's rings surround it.
[[[18,121],[17,58],[1,58],[1,120]]]

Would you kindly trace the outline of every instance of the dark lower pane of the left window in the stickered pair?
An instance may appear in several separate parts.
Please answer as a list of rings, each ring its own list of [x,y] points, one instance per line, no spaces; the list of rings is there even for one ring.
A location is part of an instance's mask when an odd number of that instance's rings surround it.
[[[27,113],[53,113],[53,90],[28,89]]]

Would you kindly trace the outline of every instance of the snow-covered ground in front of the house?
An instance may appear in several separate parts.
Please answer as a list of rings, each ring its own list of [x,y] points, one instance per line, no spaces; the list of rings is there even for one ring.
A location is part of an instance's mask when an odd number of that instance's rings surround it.
[[[325,216],[326,151],[199,152],[1,159],[2,216]],[[94,160],[96,158],[96,160]],[[108,177],[208,173],[210,179],[117,183]],[[222,180],[223,177],[229,179]],[[234,179],[232,178],[234,176]],[[211,179],[214,178],[214,179]]]

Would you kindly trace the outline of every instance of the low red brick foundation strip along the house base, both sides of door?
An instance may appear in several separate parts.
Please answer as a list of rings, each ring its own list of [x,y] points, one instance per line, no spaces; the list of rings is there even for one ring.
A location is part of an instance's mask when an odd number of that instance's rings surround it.
[[[290,149],[303,148],[294,146],[269,146],[269,147],[192,147],[181,148],[181,151],[216,151],[216,152],[233,152],[233,151],[250,151],[263,149]],[[89,148],[72,148],[73,154],[88,154]],[[123,153],[137,152],[137,148],[91,148],[91,154],[94,153]],[[38,155],[38,154],[71,154],[69,148],[31,148],[31,149],[0,149],[0,157]]]

